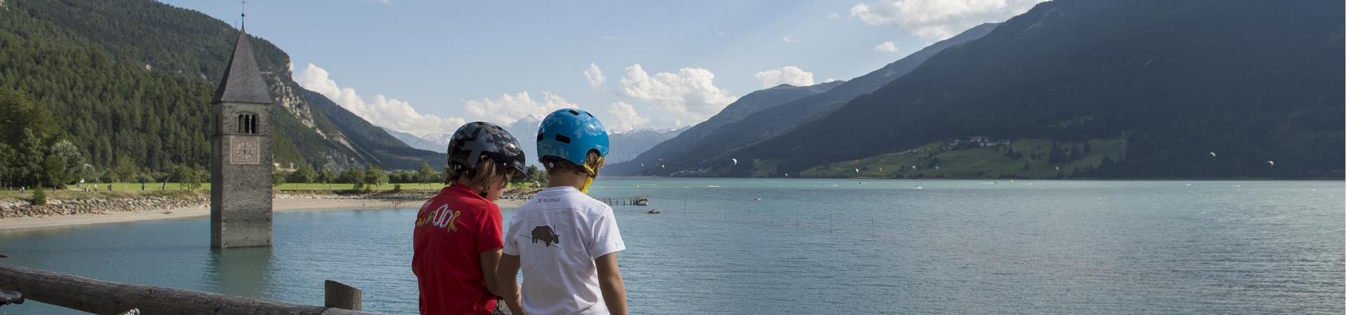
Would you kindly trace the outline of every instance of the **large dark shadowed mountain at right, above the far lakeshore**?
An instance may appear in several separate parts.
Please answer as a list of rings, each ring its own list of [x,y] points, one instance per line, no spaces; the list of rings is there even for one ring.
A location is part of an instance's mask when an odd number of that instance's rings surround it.
[[[953,137],[1120,137],[1120,160],[1092,175],[1342,178],[1342,9],[1047,1],[735,155],[794,172]]]

